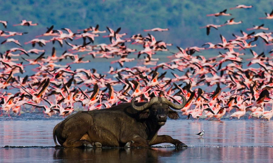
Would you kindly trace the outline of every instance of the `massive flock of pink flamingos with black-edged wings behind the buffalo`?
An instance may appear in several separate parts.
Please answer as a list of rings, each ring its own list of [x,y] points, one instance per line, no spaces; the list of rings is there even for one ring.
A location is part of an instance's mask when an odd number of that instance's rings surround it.
[[[238,5],[230,9],[251,7]],[[207,16],[231,15],[226,12],[227,9]],[[273,11],[265,14],[266,17],[260,19],[273,19]],[[28,34],[8,32],[6,28],[9,24],[5,21],[0,23],[3,24],[2,28],[5,28],[0,30],[0,36],[5,38],[2,46],[15,46],[1,52],[1,116],[10,116],[10,112],[20,115],[26,105],[32,110],[42,108],[49,117],[54,114],[67,116],[73,112],[75,103],[81,104],[85,110],[103,109],[130,102],[135,96],[140,96],[140,101],[163,96],[180,103],[181,98],[175,96],[176,94],[182,94],[187,99],[187,105],[181,111],[188,119],[198,120],[199,117],[206,116],[220,120],[222,117],[239,119],[249,116],[270,120],[273,116],[273,61],[270,57],[273,55],[273,49],[261,54],[251,49],[257,46],[257,40],[261,40],[265,45],[273,45],[272,32],[259,31],[268,30],[264,24],[246,29],[251,33],[242,30],[241,35],[234,35],[233,40],[227,41],[224,35],[220,35],[220,43],[207,42],[201,47],[177,47],[177,52],[168,56],[168,62],[158,63],[159,59],[155,54],[158,51],[168,51],[172,44],[157,41],[148,32],[164,32],[169,29],[153,28],[144,30],[145,35],[126,37],[126,33],[120,33],[121,28],[113,30],[107,27],[107,31],[100,31],[97,25],[72,32],[68,28],[54,29],[52,25],[42,35],[24,43],[32,44],[32,49],[24,49],[21,42],[12,36]],[[200,28],[207,28],[209,35],[211,27],[217,29],[239,23],[242,22],[234,22],[234,18],[231,18],[222,25],[210,24]],[[17,25],[38,24],[22,20]],[[110,42],[96,45],[94,42],[99,36],[109,37]],[[73,39],[83,39],[83,45],[74,45]],[[50,42],[57,42],[54,46],[61,47],[67,44],[69,49],[65,49],[62,54],[54,47],[44,49]],[[141,50],[128,48],[131,44]],[[35,46],[39,49],[34,48]],[[225,53],[219,52],[215,57],[207,59],[198,54],[207,49],[224,49]],[[244,53],[252,54],[253,57],[244,61],[241,58]],[[31,59],[30,55],[35,59]],[[109,64],[109,72],[99,74],[96,71],[99,67],[93,68],[92,63],[85,58],[89,55],[93,58],[116,58],[111,64],[117,62],[121,68],[114,69]],[[127,58],[129,56],[130,58]],[[23,62],[19,59],[23,59]],[[64,64],[63,60],[70,62]],[[123,67],[124,62],[134,60],[140,65]],[[91,69],[82,67],[72,70],[70,67],[71,64],[87,62],[90,62],[88,68]],[[247,68],[243,68],[243,63],[248,63]],[[27,72],[27,66],[35,68],[32,72]],[[249,115],[245,115],[246,112],[249,112]]]

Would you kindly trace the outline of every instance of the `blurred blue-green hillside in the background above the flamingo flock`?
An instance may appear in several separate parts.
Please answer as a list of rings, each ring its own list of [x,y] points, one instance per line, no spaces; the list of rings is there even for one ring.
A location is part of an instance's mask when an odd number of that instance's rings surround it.
[[[201,46],[205,42],[219,43],[221,42],[220,33],[227,39],[233,39],[232,33],[240,35],[240,30],[246,31],[246,28],[250,28],[252,25],[264,23],[265,27],[273,29],[273,20],[259,19],[259,17],[265,17],[265,12],[272,11],[273,2],[270,0],[1,0],[0,3],[0,20],[8,21],[8,27],[5,29],[8,31],[15,30],[12,25],[20,23],[22,19],[39,23],[38,26],[29,29],[39,28],[41,33],[51,25],[54,25],[55,29],[70,28],[72,31],[76,31],[99,24],[100,30],[106,30],[106,26],[112,29],[121,27],[121,32],[126,32],[130,37],[137,33],[147,33],[143,32],[143,29],[159,27],[170,28],[170,30],[151,32],[158,40],[173,43],[175,46],[188,47]],[[254,7],[229,9],[239,4],[253,5]],[[224,9],[227,9],[227,13],[232,15],[206,16]],[[218,30],[211,29],[209,36],[206,35],[205,28],[199,28],[207,24],[224,24],[230,18],[235,18],[236,22],[241,20],[243,23],[227,25]],[[25,27],[17,27],[16,30],[18,29],[26,30]],[[0,30],[4,30],[4,27],[0,26]],[[35,31],[39,32],[39,30]],[[32,34],[39,35],[41,33]]]

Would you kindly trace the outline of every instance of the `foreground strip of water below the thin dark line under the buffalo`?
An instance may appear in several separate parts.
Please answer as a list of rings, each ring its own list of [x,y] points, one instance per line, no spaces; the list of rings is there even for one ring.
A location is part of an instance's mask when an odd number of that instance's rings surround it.
[[[0,162],[271,162],[272,147],[0,148]]]

